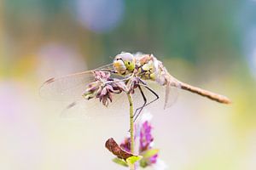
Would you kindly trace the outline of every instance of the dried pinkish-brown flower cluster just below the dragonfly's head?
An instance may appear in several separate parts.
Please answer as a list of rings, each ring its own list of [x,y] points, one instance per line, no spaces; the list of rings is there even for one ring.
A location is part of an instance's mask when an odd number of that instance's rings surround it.
[[[94,71],[95,81],[87,85],[84,99],[98,98],[103,105],[108,106],[113,101],[113,94],[127,91],[125,82],[110,77],[106,71]]]

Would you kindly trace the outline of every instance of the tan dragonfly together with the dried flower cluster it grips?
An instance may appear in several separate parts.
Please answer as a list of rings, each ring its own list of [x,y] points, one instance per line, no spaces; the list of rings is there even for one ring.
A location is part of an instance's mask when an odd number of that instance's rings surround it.
[[[177,93],[173,90],[174,88],[199,94],[218,103],[231,103],[230,99],[224,95],[197,88],[172,77],[163,63],[153,54],[126,52],[117,54],[111,64],[103,65],[95,70],[50,78],[40,88],[40,94],[47,98],[57,96],[61,99],[82,99],[87,102],[90,99],[100,99],[103,105],[108,106],[119,94],[135,94],[135,90],[138,89],[143,104],[138,106],[134,112],[134,120],[136,120],[143,108],[160,99],[159,93],[149,85],[149,82],[162,87],[160,89],[164,94],[164,109],[172,106],[176,99]],[[148,101],[145,90],[153,94],[154,99]],[[77,102],[71,103],[67,106],[67,110],[75,105]]]

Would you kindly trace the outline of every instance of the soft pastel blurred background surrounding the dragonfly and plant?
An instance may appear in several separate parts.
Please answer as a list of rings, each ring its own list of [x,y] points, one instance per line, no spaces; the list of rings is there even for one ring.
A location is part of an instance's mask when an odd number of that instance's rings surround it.
[[[233,101],[181,92],[167,111],[154,105],[167,169],[256,168],[256,1],[2,0],[0,169],[122,169],[104,143],[128,134],[126,116],[63,120],[65,105],[38,95],[49,77],[121,51],[154,54],[179,80]]]

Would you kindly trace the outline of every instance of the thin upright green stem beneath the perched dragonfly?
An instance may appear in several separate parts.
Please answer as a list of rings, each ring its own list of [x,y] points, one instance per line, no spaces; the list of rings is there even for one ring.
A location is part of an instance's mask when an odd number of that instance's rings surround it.
[[[130,139],[131,139],[131,154],[134,153],[134,125],[133,125],[133,101],[130,93],[127,93],[127,97],[130,105]],[[134,170],[135,166],[131,167],[131,170]]]

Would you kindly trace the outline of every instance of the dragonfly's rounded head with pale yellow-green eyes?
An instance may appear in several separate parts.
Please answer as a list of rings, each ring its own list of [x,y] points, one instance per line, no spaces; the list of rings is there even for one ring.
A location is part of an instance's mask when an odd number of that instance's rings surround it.
[[[130,53],[121,53],[113,59],[113,68],[121,75],[126,75],[134,71],[136,60]]]

